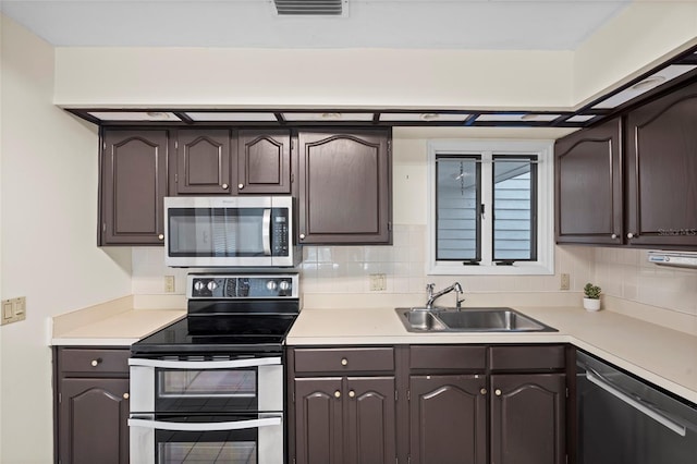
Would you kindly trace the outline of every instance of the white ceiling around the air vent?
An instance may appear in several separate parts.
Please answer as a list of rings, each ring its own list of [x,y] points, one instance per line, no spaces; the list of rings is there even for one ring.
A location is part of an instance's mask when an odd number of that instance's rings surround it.
[[[573,50],[632,0],[346,0],[346,17],[271,0],[0,0],[58,47]]]

